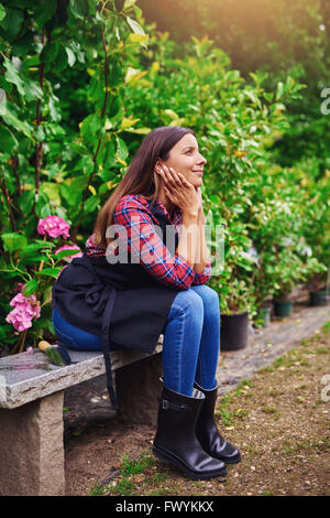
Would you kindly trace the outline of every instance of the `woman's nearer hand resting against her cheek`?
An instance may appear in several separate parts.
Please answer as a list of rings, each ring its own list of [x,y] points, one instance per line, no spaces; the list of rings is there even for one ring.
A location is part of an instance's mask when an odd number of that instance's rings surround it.
[[[164,192],[174,205],[183,211],[183,214],[198,215],[201,195],[198,195],[194,185],[185,176],[165,164],[155,168],[163,180]]]

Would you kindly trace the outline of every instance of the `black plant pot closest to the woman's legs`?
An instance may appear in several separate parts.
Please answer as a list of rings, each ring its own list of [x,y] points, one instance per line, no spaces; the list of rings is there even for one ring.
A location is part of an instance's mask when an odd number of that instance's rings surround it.
[[[220,349],[239,350],[248,345],[249,313],[221,315]]]

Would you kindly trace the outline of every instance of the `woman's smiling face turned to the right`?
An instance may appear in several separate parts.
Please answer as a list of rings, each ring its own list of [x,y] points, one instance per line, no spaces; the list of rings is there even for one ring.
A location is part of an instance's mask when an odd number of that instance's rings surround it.
[[[168,159],[163,162],[167,168],[173,168],[176,172],[182,173],[194,187],[197,188],[202,184],[202,170],[207,161],[200,154],[194,134],[185,134],[172,148]]]

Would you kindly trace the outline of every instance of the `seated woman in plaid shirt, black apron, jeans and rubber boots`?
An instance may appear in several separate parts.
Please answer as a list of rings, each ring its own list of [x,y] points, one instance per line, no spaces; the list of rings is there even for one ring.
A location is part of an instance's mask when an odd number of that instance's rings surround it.
[[[193,478],[222,476],[226,464],[240,461],[213,420],[220,312],[205,285],[205,164],[191,130],[151,131],[99,213],[82,258],[62,270],[53,291],[58,338],[103,348],[114,406],[109,348],[152,353],[164,334],[153,451]]]

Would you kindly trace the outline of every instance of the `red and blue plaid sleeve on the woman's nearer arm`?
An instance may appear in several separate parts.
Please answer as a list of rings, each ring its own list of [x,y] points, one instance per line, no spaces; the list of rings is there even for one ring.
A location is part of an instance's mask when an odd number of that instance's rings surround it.
[[[161,284],[187,290],[195,280],[195,272],[186,259],[172,255],[158,236],[155,224],[139,201],[124,199],[117,204],[113,223],[120,225],[131,261],[139,262]]]

